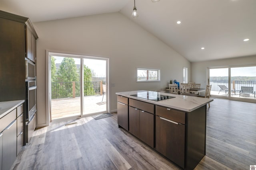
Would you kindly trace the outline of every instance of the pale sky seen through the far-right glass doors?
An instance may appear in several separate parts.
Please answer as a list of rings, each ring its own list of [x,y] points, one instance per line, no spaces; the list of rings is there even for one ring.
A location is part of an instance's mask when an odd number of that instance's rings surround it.
[[[228,76],[228,68],[210,69],[210,77]],[[231,76],[256,76],[256,66],[231,68]]]

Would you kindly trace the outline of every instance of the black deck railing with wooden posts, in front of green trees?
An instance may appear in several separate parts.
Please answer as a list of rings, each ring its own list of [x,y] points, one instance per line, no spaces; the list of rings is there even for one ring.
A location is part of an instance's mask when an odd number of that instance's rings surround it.
[[[84,96],[102,94],[106,82],[84,82]],[[52,99],[80,97],[80,82],[52,82]]]

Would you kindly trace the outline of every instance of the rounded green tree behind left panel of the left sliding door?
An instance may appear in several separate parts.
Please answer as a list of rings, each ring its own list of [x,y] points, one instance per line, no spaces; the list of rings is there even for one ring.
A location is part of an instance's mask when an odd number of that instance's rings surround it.
[[[59,82],[75,82],[79,80],[75,60],[64,57],[57,72]]]

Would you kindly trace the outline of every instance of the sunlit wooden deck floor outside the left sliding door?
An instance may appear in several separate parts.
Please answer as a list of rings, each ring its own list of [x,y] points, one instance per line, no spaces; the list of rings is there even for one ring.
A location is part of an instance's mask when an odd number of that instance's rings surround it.
[[[102,96],[85,96],[83,115],[106,111],[106,95],[104,95],[103,102],[101,101]],[[80,97],[52,99],[51,109],[52,120],[71,116],[80,116]]]

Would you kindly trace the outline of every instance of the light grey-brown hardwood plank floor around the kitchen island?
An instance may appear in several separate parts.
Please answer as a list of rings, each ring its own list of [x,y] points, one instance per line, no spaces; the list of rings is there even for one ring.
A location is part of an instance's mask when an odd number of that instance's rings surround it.
[[[248,170],[256,164],[256,104],[214,99],[208,107],[206,156],[196,170]],[[15,170],[180,169],[129,132],[117,114],[85,117],[37,129]]]

